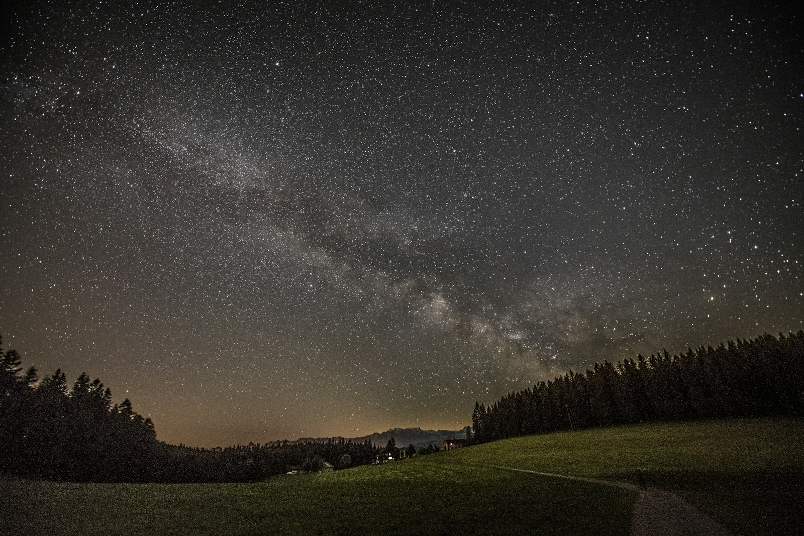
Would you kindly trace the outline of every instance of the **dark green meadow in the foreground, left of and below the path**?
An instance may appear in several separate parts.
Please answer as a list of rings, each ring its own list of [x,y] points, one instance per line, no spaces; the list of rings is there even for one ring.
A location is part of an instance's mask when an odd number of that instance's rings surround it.
[[[634,500],[445,454],[258,484],[4,485],[22,534],[626,534]]]

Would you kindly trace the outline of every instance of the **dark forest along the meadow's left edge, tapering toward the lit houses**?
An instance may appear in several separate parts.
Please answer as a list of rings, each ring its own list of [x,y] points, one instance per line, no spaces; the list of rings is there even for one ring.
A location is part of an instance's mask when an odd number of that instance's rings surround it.
[[[80,374],[68,386],[56,370],[38,380],[0,338],[0,473],[92,482],[257,481],[291,467],[369,464],[380,448],[366,440],[329,440],[229,448],[189,448],[158,441],[154,423],[129,399],[112,403],[99,379]]]

